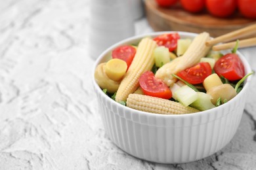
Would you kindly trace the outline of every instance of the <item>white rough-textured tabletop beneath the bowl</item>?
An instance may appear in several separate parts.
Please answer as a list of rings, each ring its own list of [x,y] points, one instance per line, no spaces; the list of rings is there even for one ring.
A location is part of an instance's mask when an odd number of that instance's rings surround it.
[[[216,154],[165,165],[119,150],[93,93],[88,6],[0,2],[0,169],[256,169],[256,78],[234,139]],[[136,34],[152,31],[145,18],[135,26]],[[253,65],[256,48],[242,52]]]

